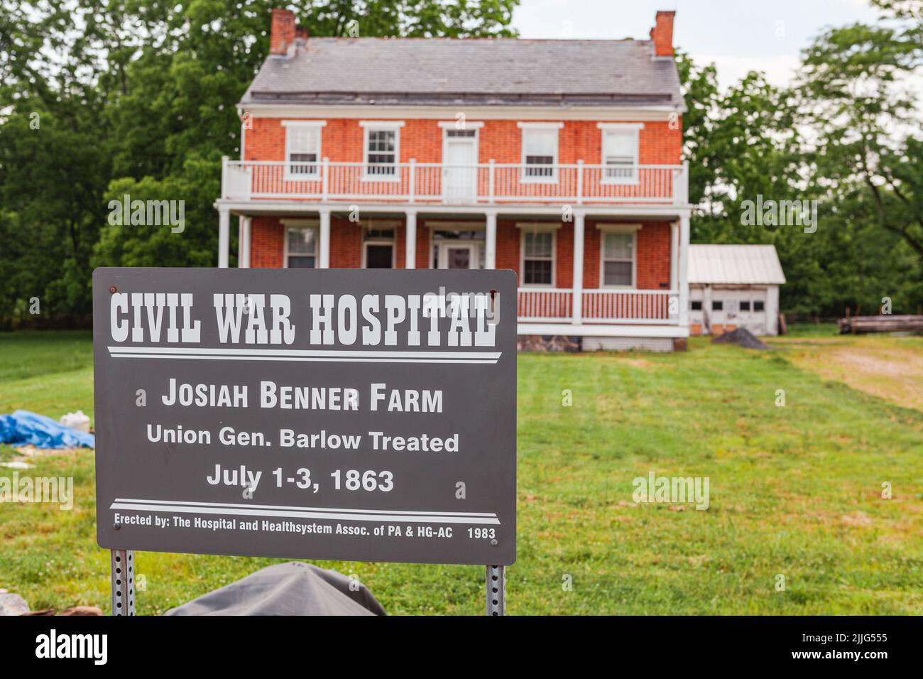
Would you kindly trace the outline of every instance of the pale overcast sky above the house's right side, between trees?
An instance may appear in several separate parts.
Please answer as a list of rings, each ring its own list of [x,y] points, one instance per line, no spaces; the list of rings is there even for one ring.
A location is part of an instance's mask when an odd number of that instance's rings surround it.
[[[784,85],[821,29],[878,17],[867,0],[520,0],[513,27],[523,38],[646,39],[658,9],[677,12],[674,45],[713,61],[723,85],[750,69]]]

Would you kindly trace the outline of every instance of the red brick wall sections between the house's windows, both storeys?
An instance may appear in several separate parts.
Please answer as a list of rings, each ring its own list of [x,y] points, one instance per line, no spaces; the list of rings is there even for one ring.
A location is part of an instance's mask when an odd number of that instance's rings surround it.
[[[521,162],[521,129],[515,120],[487,120],[479,130],[479,162],[494,159],[497,163]],[[641,164],[677,164],[682,144],[682,126],[670,126],[666,121],[645,121],[639,139]],[[558,133],[559,162],[587,164],[602,162],[602,132],[595,121],[565,121]],[[333,162],[362,162],[363,127],[356,119],[328,119],[321,128],[321,153]],[[442,160],[443,132],[438,121],[406,120],[401,129],[401,162],[411,158],[419,163]],[[285,128],[279,118],[254,118],[253,129],[247,130],[246,160],[282,161],[285,154]],[[584,240],[583,285],[600,284],[600,234],[595,227],[600,220],[587,219]],[[605,221],[613,221],[606,219]],[[483,224],[483,219],[480,220]],[[520,230],[516,220],[497,220],[497,268],[519,273]],[[254,267],[282,266],[283,231],[277,218],[255,217],[251,245],[251,265]],[[404,266],[402,220],[395,230],[395,265]],[[416,266],[431,265],[429,229],[426,220],[418,218]],[[556,230],[556,285],[570,287],[573,283],[573,225],[564,223]],[[670,280],[670,227],[666,223],[649,222],[638,233],[638,286],[665,289]],[[362,261],[362,229],[345,217],[334,215],[330,223],[330,266],[357,267]]]

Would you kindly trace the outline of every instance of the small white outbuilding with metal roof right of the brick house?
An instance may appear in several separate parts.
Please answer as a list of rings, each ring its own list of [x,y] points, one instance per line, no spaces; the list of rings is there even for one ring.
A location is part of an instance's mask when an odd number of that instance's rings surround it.
[[[689,246],[689,332],[779,333],[782,264],[772,245]]]

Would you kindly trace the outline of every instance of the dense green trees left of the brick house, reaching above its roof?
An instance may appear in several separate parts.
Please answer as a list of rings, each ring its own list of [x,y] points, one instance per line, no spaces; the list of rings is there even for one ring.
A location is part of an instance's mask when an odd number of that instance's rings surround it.
[[[516,4],[0,0],[0,326],[89,322],[92,266],[215,263],[221,157],[239,154],[234,104],[269,52],[274,6],[316,36],[468,37],[512,34]],[[125,194],[183,200],[183,233],[108,224]]]

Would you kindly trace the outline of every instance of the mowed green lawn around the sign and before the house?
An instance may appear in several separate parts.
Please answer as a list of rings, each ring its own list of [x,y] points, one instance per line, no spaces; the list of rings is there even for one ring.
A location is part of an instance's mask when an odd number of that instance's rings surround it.
[[[858,350],[881,341],[890,340],[857,338]],[[907,341],[923,355],[923,340]],[[89,345],[89,334],[0,335],[0,412],[90,412]],[[825,381],[792,351],[699,339],[665,356],[522,355],[509,612],[923,611],[923,413]],[[572,406],[562,405],[564,390]],[[708,477],[709,509],[633,503],[632,479],[650,471]],[[29,473],[73,476],[76,508],[0,504],[0,588],[33,609],[107,610],[92,454],[45,456]],[[883,482],[892,499],[881,497]],[[147,587],[138,613],[271,563],[138,552]],[[390,613],[483,612],[479,567],[318,564],[359,577]]]

